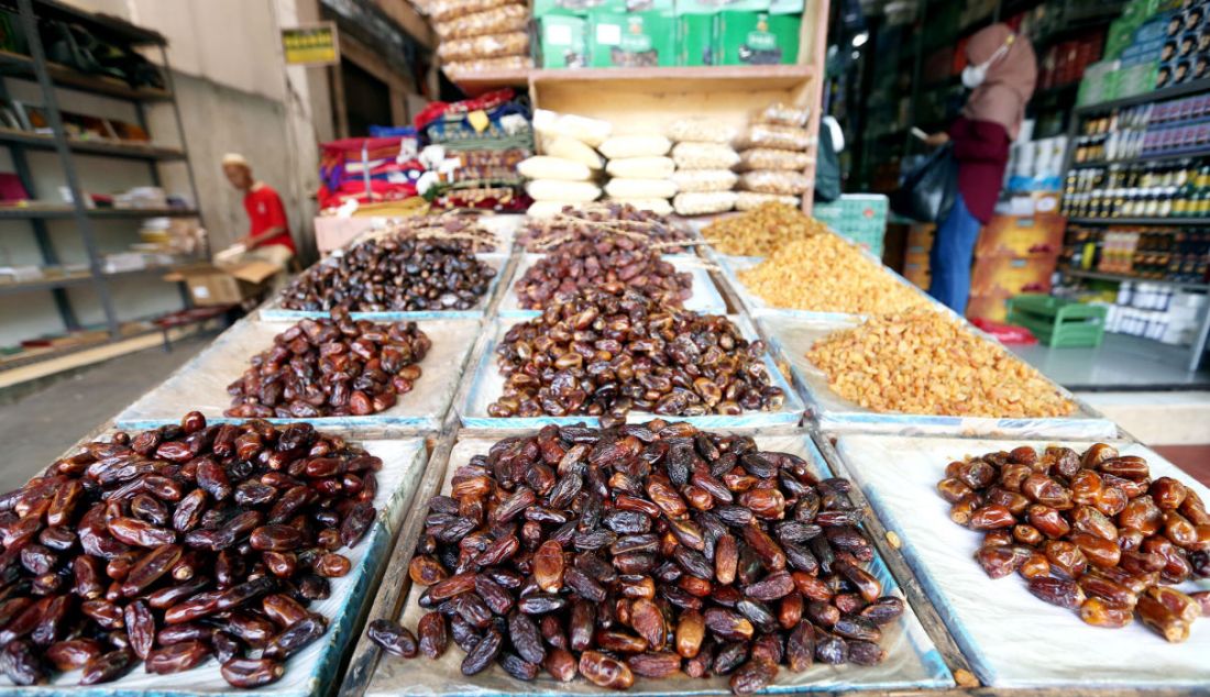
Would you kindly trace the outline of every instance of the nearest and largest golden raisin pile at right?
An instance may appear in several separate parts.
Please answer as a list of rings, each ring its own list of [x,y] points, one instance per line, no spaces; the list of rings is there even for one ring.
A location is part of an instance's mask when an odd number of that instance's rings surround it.
[[[875,411],[1049,417],[1076,409],[1002,346],[929,309],[834,332],[807,358],[837,394]]]

